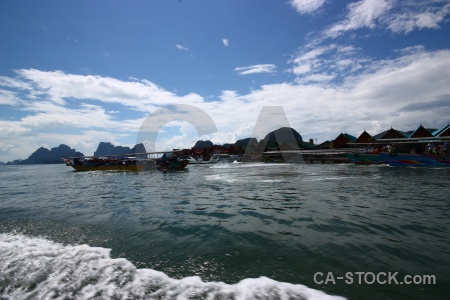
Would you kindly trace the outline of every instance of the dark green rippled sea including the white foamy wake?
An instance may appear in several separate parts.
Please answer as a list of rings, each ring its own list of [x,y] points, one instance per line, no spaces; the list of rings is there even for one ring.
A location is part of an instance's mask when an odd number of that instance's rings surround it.
[[[450,299],[450,168],[0,166],[6,299]]]

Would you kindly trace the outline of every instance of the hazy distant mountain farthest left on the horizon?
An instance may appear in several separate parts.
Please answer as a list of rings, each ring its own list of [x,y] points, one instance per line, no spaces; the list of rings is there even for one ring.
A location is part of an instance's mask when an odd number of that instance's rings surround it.
[[[84,156],[83,153],[70,148],[67,145],[61,144],[58,147],[48,150],[40,147],[33,152],[27,159],[15,160],[10,164],[30,165],[30,164],[61,164],[64,163],[63,157]]]

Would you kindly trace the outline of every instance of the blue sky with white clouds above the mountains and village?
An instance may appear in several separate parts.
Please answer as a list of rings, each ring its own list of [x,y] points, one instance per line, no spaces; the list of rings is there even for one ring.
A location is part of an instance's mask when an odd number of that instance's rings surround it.
[[[261,139],[258,119],[317,143],[438,129],[449,37],[450,0],[0,0],[0,161],[132,147],[177,105],[213,124],[175,115],[156,150]]]

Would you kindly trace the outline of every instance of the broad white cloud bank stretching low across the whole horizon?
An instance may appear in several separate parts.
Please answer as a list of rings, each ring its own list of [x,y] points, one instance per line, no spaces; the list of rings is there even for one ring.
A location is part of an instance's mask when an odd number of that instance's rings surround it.
[[[420,121],[424,126],[439,128],[450,115],[446,105],[446,95],[450,95],[450,51],[418,49],[398,51],[398,58],[394,59],[366,59],[363,72],[351,71],[355,64],[350,61],[363,60],[352,47],[333,45],[315,52],[307,49],[298,54],[299,61],[318,60],[320,72],[300,74],[298,83],[264,85],[242,95],[223,91],[216,101],[195,94],[178,96],[148,81],[19,70],[20,76],[11,80],[17,81],[17,86],[23,82],[31,89],[17,89],[24,97],[19,106],[11,107],[22,110],[25,116],[0,120],[0,160],[26,158],[42,144],[56,147],[65,143],[85,154],[92,154],[100,141],[132,146],[145,115],[130,116],[126,111],[145,108],[151,113],[168,103],[191,104],[210,115],[218,132],[208,138],[215,143],[249,137],[261,108],[273,105],[283,106],[290,125],[304,139],[319,142],[333,139],[341,131],[357,135],[365,128],[376,134],[391,125],[411,130]],[[334,54],[324,56],[327,53]],[[348,68],[333,85],[323,84],[331,79],[327,76],[335,75],[324,71],[330,69],[326,61],[335,72],[338,66]],[[109,107],[111,103],[114,109]],[[115,112],[108,113],[112,110]],[[273,121],[276,126],[276,120]],[[193,141],[201,138],[189,124],[175,122],[167,128],[175,125],[181,126],[182,134],[171,137],[161,133],[158,147],[165,149],[158,150],[191,147]]]

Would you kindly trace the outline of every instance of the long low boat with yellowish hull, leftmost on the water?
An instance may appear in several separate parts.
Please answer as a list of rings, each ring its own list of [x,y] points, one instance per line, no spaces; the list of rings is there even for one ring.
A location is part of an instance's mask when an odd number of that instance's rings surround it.
[[[67,166],[76,171],[182,171],[189,164],[186,159],[176,155],[164,155],[161,158],[147,158],[148,154],[161,152],[109,155],[109,156],[77,156],[63,158]],[[139,156],[145,156],[141,158]]]

